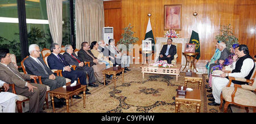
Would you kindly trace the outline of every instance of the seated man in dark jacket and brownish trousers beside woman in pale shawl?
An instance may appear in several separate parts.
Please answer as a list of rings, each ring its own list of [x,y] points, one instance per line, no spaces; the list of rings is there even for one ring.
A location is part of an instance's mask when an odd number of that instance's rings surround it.
[[[100,82],[101,84],[104,84],[102,70],[106,69],[106,65],[104,63],[102,64],[98,63],[98,59],[94,57],[92,52],[90,52],[90,45],[88,44],[88,42],[82,42],[81,46],[82,48],[77,53],[79,60],[82,62],[90,62],[90,67],[93,67],[94,74],[98,82]],[[109,83],[108,80],[106,80],[106,82]],[[96,86],[98,87],[98,85]]]

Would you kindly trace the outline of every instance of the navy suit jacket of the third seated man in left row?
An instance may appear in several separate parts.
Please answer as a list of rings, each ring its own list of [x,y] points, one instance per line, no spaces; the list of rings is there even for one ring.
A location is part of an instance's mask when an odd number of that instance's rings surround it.
[[[61,62],[61,60],[58,57],[56,57],[56,55],[51,53],[47,58],[49,69],[63,70],[63,67],[69,66],[68,62],[65,61],[63,55],[58,55],[63,62]]]

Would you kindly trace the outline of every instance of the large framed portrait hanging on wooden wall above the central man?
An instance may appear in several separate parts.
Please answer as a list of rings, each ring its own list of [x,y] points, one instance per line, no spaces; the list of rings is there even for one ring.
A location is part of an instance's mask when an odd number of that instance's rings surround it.
[[[181,30],[181,7],[181,5],[164,5],[164,30]],[[171,18],[171,9],[174,10],[174,18],[172,19],[176,22],[174,26],[167,24],[167,21]],[[168,15],[170,15],[170,17],[168,17]]]

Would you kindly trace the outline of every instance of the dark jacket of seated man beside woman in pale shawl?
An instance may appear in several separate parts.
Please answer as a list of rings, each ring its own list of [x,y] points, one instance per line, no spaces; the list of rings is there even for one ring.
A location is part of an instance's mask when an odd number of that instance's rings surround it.
[[[90,50],[88,50],[88,53],[90,53],[94,57],[94,55],[92,54],[92,52],[90,52]],[[83,49],[80,49],[79,52],[77,53],[77,55],[78,55],[80,61],[90,62],[90,67],[92,67],[93,65],[96,65],[96,63],[93,62],[93,58],[90,57],[90,55],[88,55]],[[96,58],[96,57],[94,57],[94,58]]]

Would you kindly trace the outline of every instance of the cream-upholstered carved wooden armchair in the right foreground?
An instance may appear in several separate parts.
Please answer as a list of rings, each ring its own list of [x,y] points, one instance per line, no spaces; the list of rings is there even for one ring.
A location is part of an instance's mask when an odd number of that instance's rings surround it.
[[[256,65],[256,62],[255,62]],[[234,104],[238,106],[245,107],[246,112],[249,112],[248,107],[253,108],[253,112],[256,113],[256,67],[254,69],[253,75],[251,75],[250,80],[245,78],[234,78],[229,76],[229,83],[222,89],[221,93],[221,104],[222,108],[223,100],[225,100],[224,113],[228,109],[229,104]],[[238,80],[242,82],[247,82],[249,85],[239,85],[234,84],[234,87],[230,87],[232,80]]]

